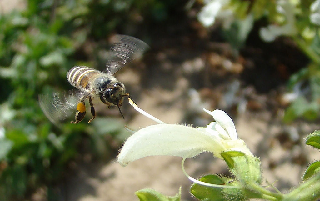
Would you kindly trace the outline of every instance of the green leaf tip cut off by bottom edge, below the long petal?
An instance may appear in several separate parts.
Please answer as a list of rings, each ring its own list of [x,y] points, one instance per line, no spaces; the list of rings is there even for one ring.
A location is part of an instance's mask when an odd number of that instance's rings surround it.
[[[154,189],[141,189],[135,192],[140,201],[180,201],[181,187],[175,196],[165,196]]]

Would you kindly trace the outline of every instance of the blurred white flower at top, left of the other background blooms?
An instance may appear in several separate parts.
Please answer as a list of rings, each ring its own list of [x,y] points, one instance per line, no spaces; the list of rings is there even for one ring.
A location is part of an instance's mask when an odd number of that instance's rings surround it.
[[[224,28],[230,27],[234,21],[233,11],[226,9],[230,0],[206,0],[205,6],[198,14],[199,21],[205,26],[209,27],[214,24],[216,18],[220,18]]]

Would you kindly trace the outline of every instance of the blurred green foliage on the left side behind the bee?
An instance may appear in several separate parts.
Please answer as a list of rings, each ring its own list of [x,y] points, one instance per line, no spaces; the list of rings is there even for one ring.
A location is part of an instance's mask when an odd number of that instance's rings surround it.
[[[50,195],[82,152],[110,155],[108,139],[123,132],[121,121],[57,128],[38,106],[38,94],[71,89],[68,69],[97,64],[108,35],[134,34],[145,18],[164,20],[170,6],[160,0],[29,0],[23,11],[0,15],[0,200],[23,199],[46,185]]]

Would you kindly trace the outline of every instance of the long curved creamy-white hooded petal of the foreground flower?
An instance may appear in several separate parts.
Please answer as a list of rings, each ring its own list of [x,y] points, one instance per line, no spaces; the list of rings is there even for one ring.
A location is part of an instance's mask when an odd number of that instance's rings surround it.
[[[122,166],[146,156],[195,157],[204,151],[220,153],[220,137],[184,125],[159,124],[142,128],[124,143],[117,159]]]

